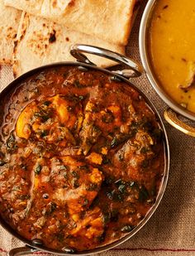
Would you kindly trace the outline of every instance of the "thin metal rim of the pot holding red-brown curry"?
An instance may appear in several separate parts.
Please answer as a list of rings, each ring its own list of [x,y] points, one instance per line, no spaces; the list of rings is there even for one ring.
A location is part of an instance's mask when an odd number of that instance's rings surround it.
[[[100,70],[100,71],[106,73],[107,75],[115,76],[119,80],[122,80],[122,81],[126,82],[126,84],[131,85],[132,88],[136,89],[136,91],[138,91],[141,94],[141,96],[145,99],[146,104],[150,107],[151,111],[155,114],[156,118],[158,119],[159,126],[160,126],[160,128],[162,129],[162,131],[164,133],[164,177],[162,178],[161,185],[159,187],[159,192],[158,192],[158,196],[156,197],[155,204],[150,208],[149,212],[145,215],[145,218],[140,221],[140,223],[136,226],[136,228],[133,229],[130,233],[126,234],[121,239],[118,239],[117,241],[112,242],[112,244],[107,244],[107,245],[103,245],[102,247],[98,247],[97,249],[85,250],[85,251],[81,251],[81,252],[78,251],[78,252],[74,252],[74,253],[66,253],[66,252],[55,250],[55,249],[46,248],[43,245],[33,244],[32,241],[23,238],[20,234],[17,234],[17,232],[14,229],[12,229],[2,219],[1,215],[0,215],[0,225],[2,225],[2,227],[4,229],[6,229],[14,237],[16,237],[17,239],[20,239],[23,243],[27,244],[31,248],[39,249],[39,250],[44,251],[46,253],[58,254],[58,255],[64,255],[64,256],[65,255],[98,254],[98,253],[105,252],[108,249],[113,249],[114,247],[117,247],[118,245],[124,243],[126,240],[130,239],[134,234],[136,234],[148,222],[148,220],[150,220],[150,217],[155,213],[155,210],[159,206],[159,202],[162,200],[162,197],[164,196],[164,191],[165,191],[165,188],[167,186],[168,177],[169,177],[169,158],[170,158],[169,141],[168,141],[168,136],[167,136],[166,130],[164,128],[164,123],[162,121],[162,118],[160,117],[157,109],[155,109],[155,105],[150,101],[150,99],[148,99],[148,97],[145,95],[145,93],[143,93],[136,85],[131,84],[130,80],[127,80],[123,76],[112,73],[112,71],[110,71],[110,70],[102,69],[102,68],[97,67],[95,65],[88,65],[88,64],[85,64],[83,62],[64,61],[64,62],[53,63],[53,64],[50,64],[50,65],[40,66],[40,67],[38,67],[34,70],[30,70],[30,71],[26,72],[25,74],[19,76],[16,80],[13,80],[9,85],[7,85],[7,87],[5,89],[2,90],[2,92],[0,93],[0,98],[2,98],[4,94],[7,94],[7,92],[10,89],[14,89],[14,87],[17,87],[17,85],[20,84],[22,80],[26,80],[26,78],[29,78],[31,75],[34,75],[34,74],[36,74],[38,72],[41,72],[43,70],[46,70],[48,68],[52,68],[52,67],[57,68],[57,67],[60,67],[60,66],[67,66],[67,65],[81,66],[81,67],[91,69],[91,70]]]

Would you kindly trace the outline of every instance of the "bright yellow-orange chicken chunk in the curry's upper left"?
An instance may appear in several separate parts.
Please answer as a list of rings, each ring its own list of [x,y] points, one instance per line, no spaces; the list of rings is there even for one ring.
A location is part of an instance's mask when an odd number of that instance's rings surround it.
[[[71,130],[80,129],[82,123],[81,106],[72,106],[72,103],[57,94],[40,103],[28,104],[17,119],[16,131],[20,138],[28,139],[34,132],[39,140],[58,142],[60,146],[74,146],[76,142]]]

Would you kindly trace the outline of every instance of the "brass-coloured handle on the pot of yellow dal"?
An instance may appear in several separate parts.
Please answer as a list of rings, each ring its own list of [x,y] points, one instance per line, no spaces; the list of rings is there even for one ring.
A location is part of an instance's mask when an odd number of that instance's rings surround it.
[[[174,128],[178,129],[182,133],[188,134],[189,136],[195,137],[195,128],[189,126],[186,123],[183,123],[178,118],[178,115],[174,113],[172,109],[166,109],[164,111],[164,118],[165,120],[172,125]]]

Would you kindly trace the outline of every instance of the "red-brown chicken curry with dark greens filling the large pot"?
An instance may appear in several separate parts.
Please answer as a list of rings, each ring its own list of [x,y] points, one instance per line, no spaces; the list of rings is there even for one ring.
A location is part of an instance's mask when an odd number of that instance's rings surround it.
[[[83,251],[145,219],[164,180],[158,118],[99,70],[48,67],[2,100],[0,213],[25,239]]]

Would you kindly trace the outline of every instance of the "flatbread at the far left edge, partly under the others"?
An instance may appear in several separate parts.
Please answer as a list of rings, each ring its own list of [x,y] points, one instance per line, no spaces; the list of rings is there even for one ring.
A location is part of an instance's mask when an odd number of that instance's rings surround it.
[[[0,64],[11,65],[13,54],[13,39],[17,36],[17,27],[21,11],[5,7],[0,0]]]

